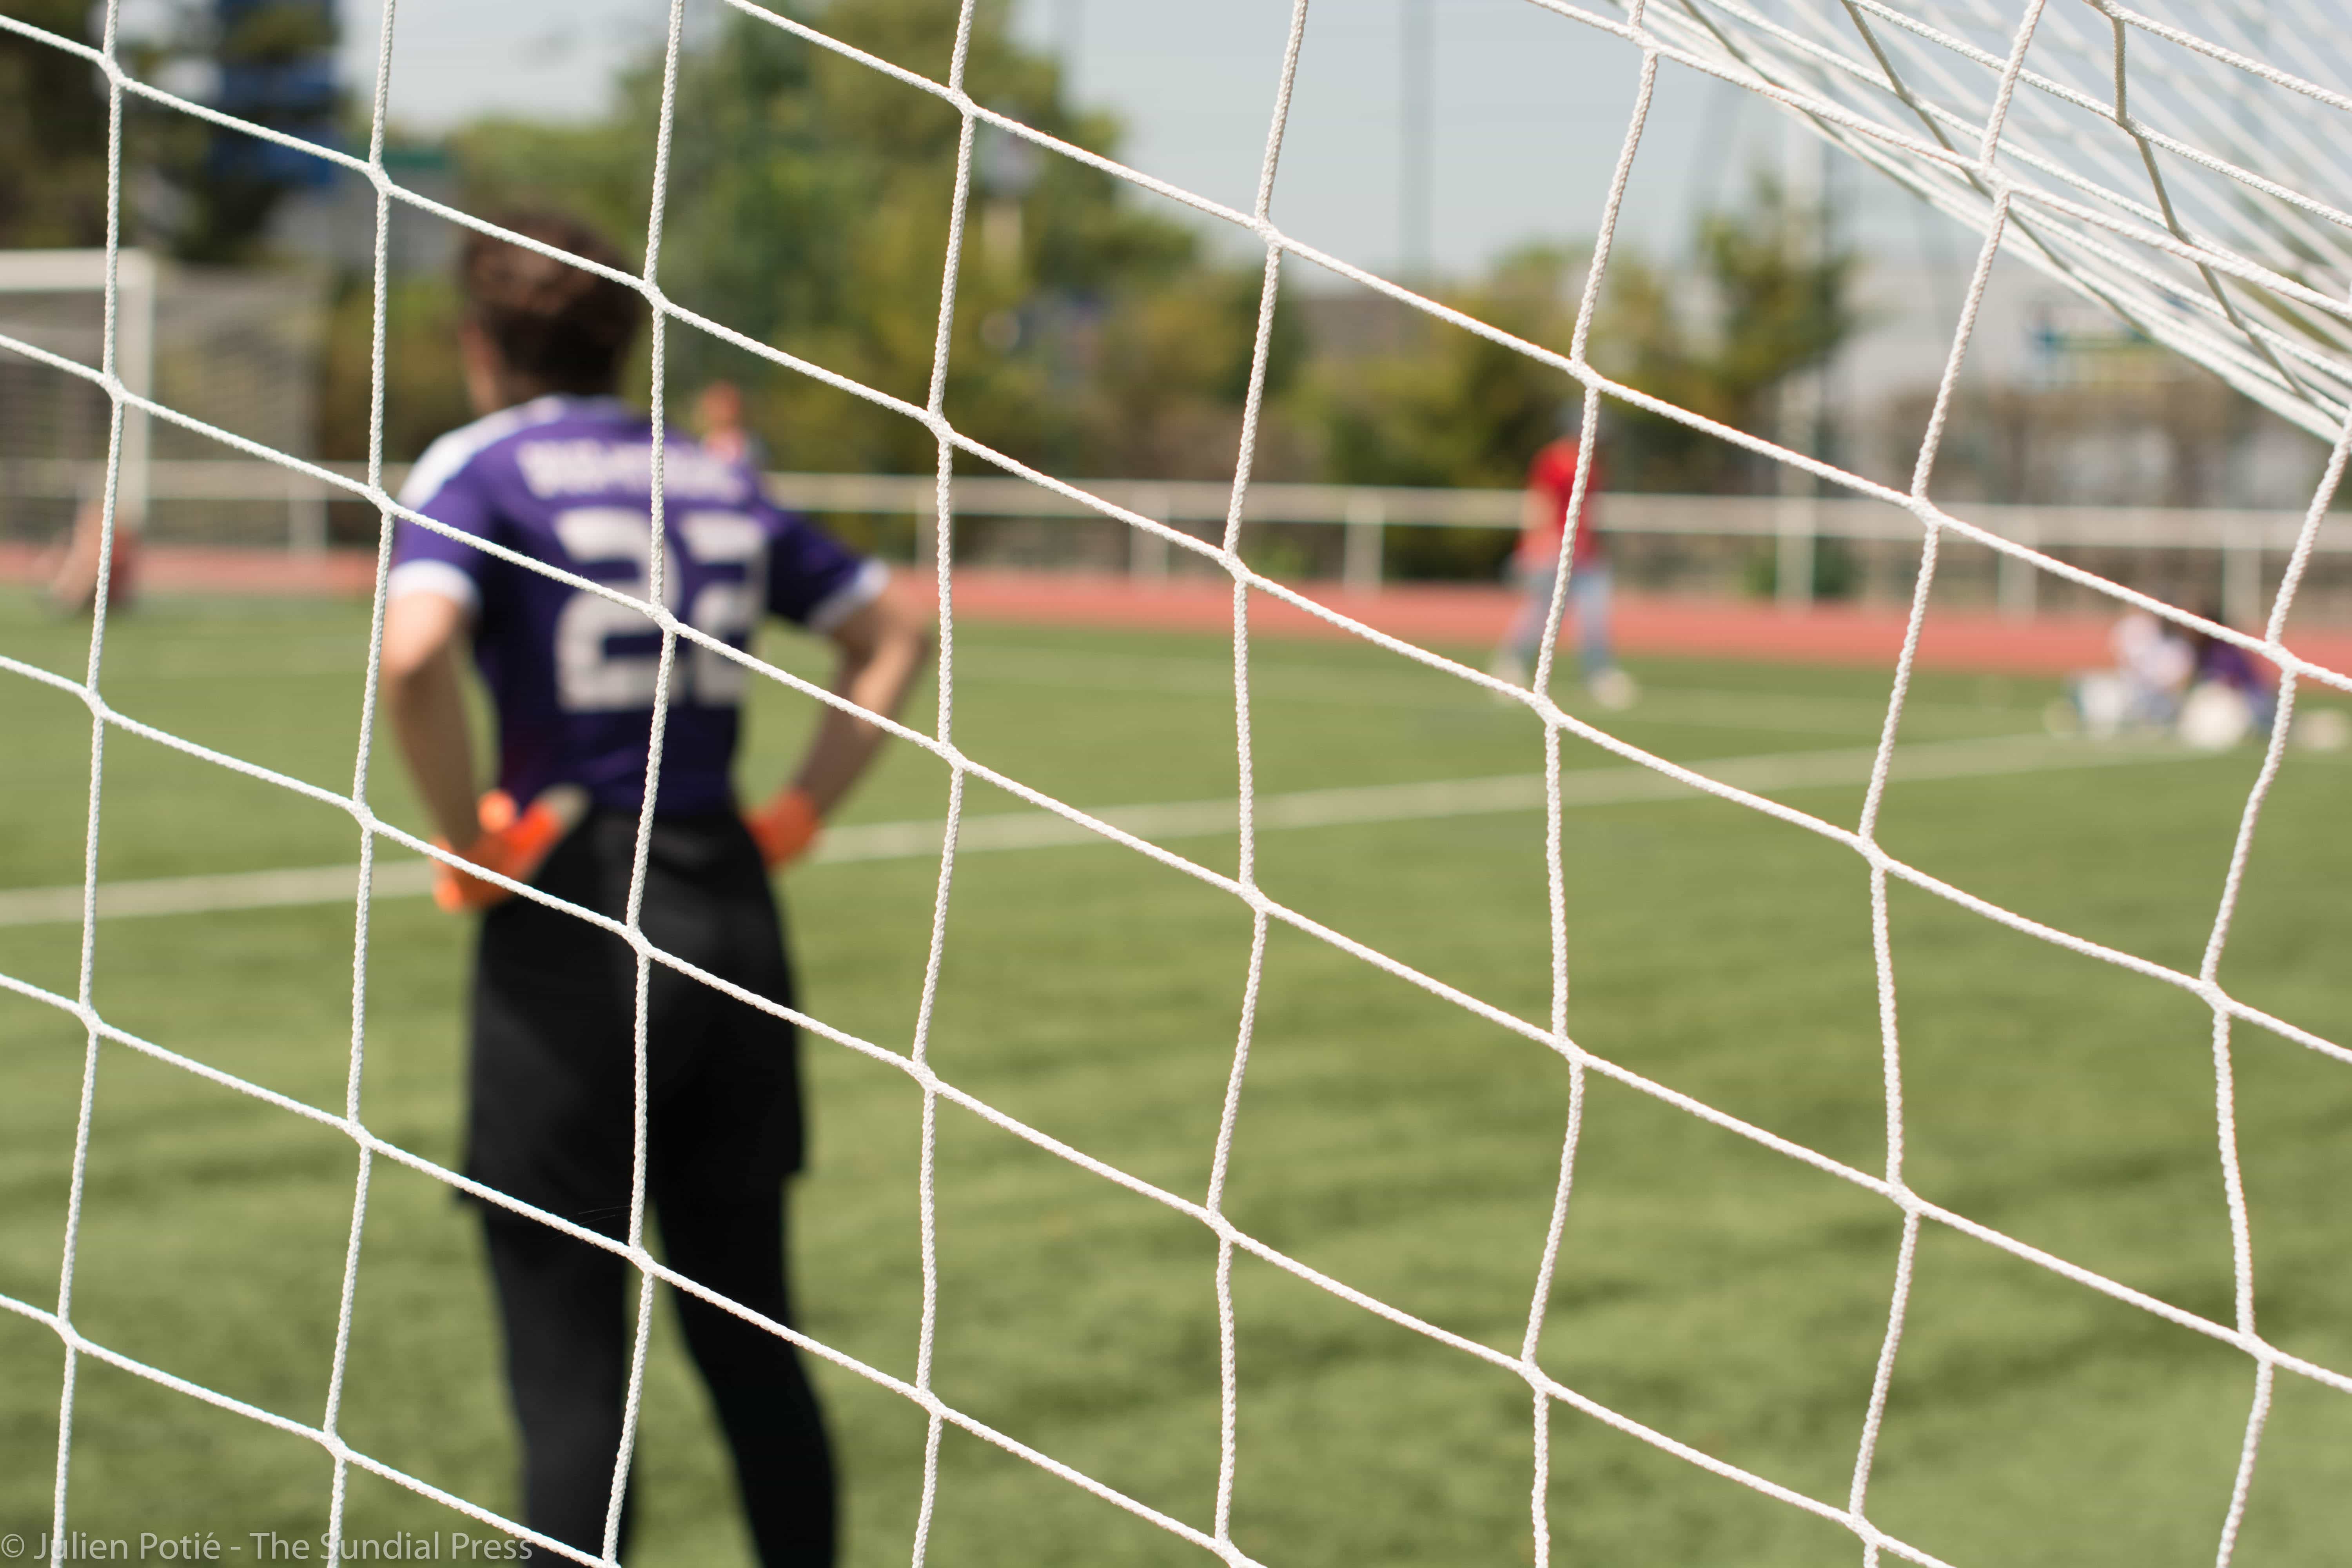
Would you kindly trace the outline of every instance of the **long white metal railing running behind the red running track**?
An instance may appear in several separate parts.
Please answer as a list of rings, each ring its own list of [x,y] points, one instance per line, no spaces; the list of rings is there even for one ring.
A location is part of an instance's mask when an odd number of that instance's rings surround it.
[[[153,501],[254,501],[287,508],[287,541],[318,548],[325,538],[325,501],[348,491],[308,475],[259,461],[155,458],[146,473]],[[322,463],[360,480],[358,463]],[[92,463],[16,458],[0,461],[0,503],[12,496],[75,496],[94,477]],[[397,489],[405,468],[388,463],[386,484]],[[1080,480],[1103,501],[1176,527],[1223,524],[1230,489],[1214,480]],[[931,475],[823,475],[771,473],[769,494],[809,512],[863,512],[913,517],[917,536],[931,538]],[[955,480],[962,517],[1098,517],[1080,501],[1028,480],[971,475]],[[1962,508],[1969,522],[2042,550],[2126,548],[2213,552],[2223,562],[2227,614],[2260,621],[2260,571],[2265,555],[2286,555],[2303,527],[2298,512],[2218,508],[2122,508],[2122,505],[1994,505]],[[1515,489],[1404,489],[1369,484],[1251,484],[1242,515],[1261,524],[1338,524],[1345,529],[1341,581],[1355,590],[1381,585],[1383,536],[1390,527],[1515,529]],[[1599,522],[1609,534],[1771,538],[1785,581],[1811,583],[1811,545],[1818,538],[1910,541],[1919,524],[1910,512],[1879,501],[1790,496],[1651,496],[1613,491],[1602,498]],[[2352,522],[2328,522],[2317,548],[2352,555]],[[1169,543],[1145,531],[1129,536],[1129,569],[1164,576]],[[2037,571],[2002,555],[1997,599],[2013,614],[2032,611]]]

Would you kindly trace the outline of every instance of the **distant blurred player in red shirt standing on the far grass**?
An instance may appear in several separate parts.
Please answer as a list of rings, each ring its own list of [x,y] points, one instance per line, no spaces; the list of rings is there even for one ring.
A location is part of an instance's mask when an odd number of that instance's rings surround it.
[[[1510,635],[1494,656],[1494,675],[1524,686],[1543,646],[1543,621],[1552,611],[1552,583],[1559,576],[1559,545],[1569,534],[1569,503],[1576,498],[1576,461],[1583,444],[1583,400],[1566,404],[1562,435],[1526,465],[1526,503],[1519,524],[1519,548],[1510,557],[1510,576],[1524,590]],[[1618,668],[1609,649],[1609,550],[1592,522],[1595,501],[1606,487],[1604,451],[1595,447],[1585,475],[1585,505],[1576,517],[1569,548],[1569,607],[1576,614],[1576,665],[1585,689],[1602,708],[1630,708],[1635,682]]]

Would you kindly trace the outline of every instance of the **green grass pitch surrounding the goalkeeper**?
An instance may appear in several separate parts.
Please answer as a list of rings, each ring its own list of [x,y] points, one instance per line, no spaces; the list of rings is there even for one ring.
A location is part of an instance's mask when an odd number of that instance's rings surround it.
[[[80,670],[85,630],[0,602],[0,651]],[[1084,806],[1232,792],[1230,654],[1207,637],[964,628],[957,743]],[[807,646],[771,649],[814,670]],[[365,609],[158,602],[108,637],[127,715],[348,788]],[[1345,642],[1256,646],[1258,788],[1534,773],[1541,731],[1442,675]],[[1679,762],[1865,748],[1886,672],[1649,663],[1613,724]],[[2039,726],[2049,686],[1922,677],[1905,745]],[[809,705],[764,691],[746,757],[764,790]],[[917,693],[915,722],[929,724]],[[80,877],[89,722],[0,675],[0,886]],[[1945,748],[1940,755],[1950,755]],[[1898,780],[1886,846],[1985,898],[2197,969],[2258,757],[2020,745],[1976,776]],[[2112,759],[2112,757],[2110,757]],[[1623,766],[1569,743],[1566,766]],[[2253,849],[2223,980],[2352,1037],[2352,764],[2288,757]],[[1851,825],[1858,776],[1788,788]],[[414,809],[386,750],[374,799]],[[946,769],[896,748],[847,820],[936,818]],[[1018,802],[985,785],[974,813]],[[1171,842],[1230,870],[1232,837]],[[120,731],[106,743],[103,879],[355,860],[334,809]],[[1545,1018],[1543,813],[1268,832],[1291,907],[1522,1018]],[[1853,1166],[1884,1164],[1863,863],[1705,797],[1566,813],[1569,1025],[1588,1048]],[[790,877],[814,1013],[910,1041],[931,919],[927,858]],[[1907,1173],[1926,1197],[2211,1319],[2230,1319],[2211,1016],[2173,987],[1891,891]],[[0,929],[0,971],[71,994],[80,929]],[[96,1004],[146,1039],[341,1107],[350,910],[111,919]],[[466,931],[383,900],[369,950],[365,1117],[456,1157]],[[1115,846],[971,853],[948,919],[934,1060],[988,1103],[1202,1197],[1232,1058],[1247,910]],[[2328,954],[2336,954],[2333,959]],[[0,997],[0,1291],[49,1307],[82,1034]],[[826,1342],[910,1378],[920,1314],[920,1093],[807,1044],[816,1164],[797,1288]],[[2239,1027],[2239,1135],[2260,1326],[2352,1368],[2352,1070]],[[1517,1352],[1566,1114],[1564,1063],[1277,926],[1228,1208],[1277,1248],[1454,1333]],[[936,1385],[976,1418],[1207,1528],[1216,1488],[1209,1232],[955,1107],[941,1110]],[[301,1422],[334,1345],[355,1154],[329,1128],[129,1048],[99,1053],[73,1316],[92,1340]],[[1898,1215],[1830,1175],[1595,1079],[1543,1361],[1705,1453],[1842,1505],[1886,1326]],[[1235,1540],[1270,1566],[1524,1563],[1529,1394],[1512,1375],[1251,1258],[1235,1265]],[[61,1349],[0,1314],[0,1528],[42,1530]],[[849,1495],[849,1561],[903,1561],[917,1408],[818,1371]],[[2211,1561],[2251,1363],[1978,1241],[1929,1227],[1870,1512],[1952,1563]],[[388,1465],[513,1507],[510,1429],[468,1213],[376,1164],[343,1432]],[[635,1563],[746,1561],[703,1396],[663,1307],[640,1446]],[[2279,1378],[2239,1563],[2333,1561],[2352,1537],[2352,1401]],[[2331,1481],[2331,1476],[2336,1476]],[[310,1443],[82,1363],[71,1521],[94,1535],[318,1535]],[[1573,1410],[1552,1418],[1555,1561],[1625,1568],[1853,1563],[1844,1530]],[[348,1530],[473,1528],[353,1479]],[[1209,1561],[950,1429],[931,1561]]]

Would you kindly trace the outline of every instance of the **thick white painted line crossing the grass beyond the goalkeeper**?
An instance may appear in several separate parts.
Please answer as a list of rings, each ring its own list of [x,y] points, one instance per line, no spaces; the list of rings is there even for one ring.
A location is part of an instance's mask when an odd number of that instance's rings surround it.
[[[1893,776],[1907,783],[1938,778],[1987,778],[2002,773],[2042,773],[2058,769],[2096,769],[2140,762],[2185,762],[2194,752],[2164,745],[2086,745],[2049,736],[1992,736],[1983,741],[1936,741],[1896,752]],[[1700,771],[1757,795],[1860,785],[1870,778],[1870,748],[1830,752],[1769,752],[1762,757],[1719,757],[1698,764]],[[1581,769],[1559,778],[1562,806],[1621,806],[1637,802],[1712,799],[1689,785],[1642,766]],[[1430,783],[1357,785],[1345,790],[1298,790],[1258,797],[1258,827],[1341,827],[1371,823],[1411,823],[1454,816],[1491,816],[1501,811],[1541,811],[1543,776],[1505,773],[1498,778],[1437,778]],[[1127,832],[1164,839],[1202,839],[1235,832],[1235,802],[1183,799],[1098,811],[1105,823]],[[816,846],[816,865],[854,860],[936,858],[941,823],[863,823],[830,830]],[[1051,811],[995,811],[967,816],[957,853],[1002,849],[1058,849],[1103,844],[1077,823]],[[376,898],[419,898],[433,884],[426,860],[376,860]],[[358,893],[355,865],[303,865],[273,872],[228,872],[219,877],[160,877],[153,882],[108,882],[99,886],[99,917],[134,914],[219,914],[230,910],[275,910],[292,905],[350,903]],[[0,891],[0,926],[66,924],[82,917],[80,886]]]

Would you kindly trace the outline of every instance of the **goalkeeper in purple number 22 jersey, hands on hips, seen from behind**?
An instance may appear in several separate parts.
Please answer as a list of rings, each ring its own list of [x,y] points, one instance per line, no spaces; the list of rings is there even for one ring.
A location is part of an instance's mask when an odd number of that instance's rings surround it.
[[[604,266],[560,216],[508,221]],[[416,790],[447,844],[612,919],[628,917],[661,637],[602,595],[475,548],[649,597],[652,421],[614,397],[642,306],[628,287],[506,240],[461,259],[466,390],[482,414],[416,463],[383,618],[383,691]],[[741,463],[666,437],[666,604],[748,646],[762,614],[830,637],[835,691],[891,712],[929,654],[927,614]],[[496,790],[475,802],[459,656],[496,708]],[[873,762],[882,731],[823,710],[793,785],[746,818],[729,783],[741,665],[680,639],[644,867],[647,940],[746,992],[790,1004],[767,867],[809,846]],[[764,863],[764,865],[762,865]],[[574,914],[442,867],[442,907],[485,910],[470,1001],[466,1173],[607,1237],[628,1234],[637,961]],[[800,1166],[793,1025],[663,964],[647,999],[647,1199],[668,1265],[790,1324],[783,1182]],[[485,1204],[489,1272],[522,1429],[534,1530],[600,1552],[628,1387],[630,1265]],[[677,1298],[687,1347],[734,1450],[760,1561],[833,1563],[826,1432],[793,1345]]]

